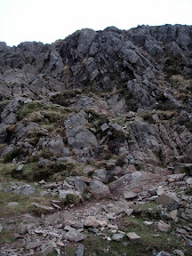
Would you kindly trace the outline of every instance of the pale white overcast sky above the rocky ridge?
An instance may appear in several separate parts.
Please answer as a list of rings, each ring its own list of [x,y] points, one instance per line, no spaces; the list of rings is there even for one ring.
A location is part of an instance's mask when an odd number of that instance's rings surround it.
[[[51,44],[77,29],[192,25],[192,0],[0,0],[0,41]]]

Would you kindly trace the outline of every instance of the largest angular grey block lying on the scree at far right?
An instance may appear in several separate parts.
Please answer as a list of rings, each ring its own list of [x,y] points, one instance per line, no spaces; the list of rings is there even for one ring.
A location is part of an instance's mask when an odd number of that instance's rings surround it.
[[[156,199],[157,204],[163,204],[170,210],[178,208],[180,199],[172,193],[164,193]]]

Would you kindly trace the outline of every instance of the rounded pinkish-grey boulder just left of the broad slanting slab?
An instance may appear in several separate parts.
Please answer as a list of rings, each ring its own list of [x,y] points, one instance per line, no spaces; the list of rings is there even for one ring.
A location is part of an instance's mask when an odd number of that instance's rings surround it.
[[[108,186],[104,185],[100,180],[93,179],[90,182],[90,188],[92,196],[94,196],[98,200],[108,198],[110,196]]]

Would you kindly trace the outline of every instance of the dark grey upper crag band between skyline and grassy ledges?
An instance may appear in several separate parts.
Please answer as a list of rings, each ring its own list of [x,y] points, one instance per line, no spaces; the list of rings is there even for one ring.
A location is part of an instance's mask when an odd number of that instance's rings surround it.
[[[111,90],[133,79],[141,87],[145,80],[165,87],[164,76],[191,77],[191,34],[180,25],[111,27],[82,29],[53,44],[1,43],[1,91],[37,98],[65,87]]]

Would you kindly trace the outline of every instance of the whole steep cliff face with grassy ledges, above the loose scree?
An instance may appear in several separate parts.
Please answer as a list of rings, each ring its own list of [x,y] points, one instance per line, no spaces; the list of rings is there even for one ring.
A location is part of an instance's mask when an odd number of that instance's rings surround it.
[[[110,156],[124,156],[124,164],[145,168],[189,156],[191,56],[192,27],[180,25],[86,28],[53,44],[1,43],[3,156],[23,143],[22,159],[35,148],[53,156],[55,143],[68,149],[58,156],[87,161],[107,147]],[[36,140],[27,145],[31,133]],[[60,140],[52,142],[52,133]]]

